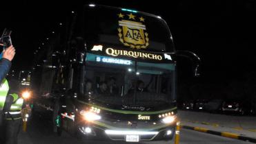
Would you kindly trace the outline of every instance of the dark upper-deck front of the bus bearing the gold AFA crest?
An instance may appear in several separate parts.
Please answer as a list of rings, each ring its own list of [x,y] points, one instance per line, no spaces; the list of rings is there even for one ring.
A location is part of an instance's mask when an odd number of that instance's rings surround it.
[[[95,45],[134,51],[175,50],[168,25],[154,14],[105,5],[85,5],[82,14],[77,32],[89,50]]]

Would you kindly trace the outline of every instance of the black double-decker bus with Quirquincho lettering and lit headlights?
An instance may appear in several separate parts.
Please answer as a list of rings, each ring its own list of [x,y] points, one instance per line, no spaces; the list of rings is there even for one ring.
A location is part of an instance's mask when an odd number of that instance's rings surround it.
[[[175,51],[159,16],[103,5],[73,11],[36,54],[34,112],[53,129],[114,141],[173,139],[177,119]],[[43,109],[41,109],[43,108]]]

